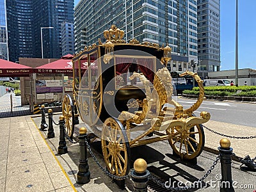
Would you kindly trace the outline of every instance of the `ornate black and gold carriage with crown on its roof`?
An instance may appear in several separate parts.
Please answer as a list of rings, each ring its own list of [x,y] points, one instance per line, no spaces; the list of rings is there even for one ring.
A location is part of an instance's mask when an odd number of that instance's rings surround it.
[[[127,175],[131,147],[168,140],[182,159],[198,157],[205,143],[203,123],[207,112],[193,115],[204,99],[204,86],[198,100],[188,109],[172,99],[172,77],[166,68],[170,47],[135,39],[122,40],[124,31],[111,26],[104,31],[106,43],[85,47],[74,56],[73,97],[65,95],[63,115],[68,136],[74,133],[74,119],[80,116],[98,138],[108,171]],[[76,113],[76,109],[78,113]]]

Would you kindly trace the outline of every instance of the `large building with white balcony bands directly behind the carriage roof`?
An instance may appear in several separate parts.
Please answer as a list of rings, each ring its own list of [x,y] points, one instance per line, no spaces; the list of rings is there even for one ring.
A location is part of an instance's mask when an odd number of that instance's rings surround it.
[[[75,7],[75,52],[103,39],[111,24],[136,38],[172,47],[170,70],[191,70],[197,60],[197,2],[193,0],[83,0]]]

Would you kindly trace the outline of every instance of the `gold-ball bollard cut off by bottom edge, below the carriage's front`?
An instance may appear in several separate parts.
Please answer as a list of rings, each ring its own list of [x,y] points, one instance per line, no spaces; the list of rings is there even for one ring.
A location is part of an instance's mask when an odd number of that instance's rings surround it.
[[[135,192],[146,192],[150,172],[147,170],[147,162],[144,159],[134,161],[134,170],[131,172],[133,189]]]

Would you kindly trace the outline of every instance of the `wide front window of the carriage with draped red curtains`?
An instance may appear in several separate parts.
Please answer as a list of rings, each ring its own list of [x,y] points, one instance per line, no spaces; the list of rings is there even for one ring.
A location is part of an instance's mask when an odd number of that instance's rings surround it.
[[[154,57],[138,57],[138,58],[115,58],[115,70],[116,70],[116,88],[122,88],[124,86],[143,86],[139,77],[133,77],[130,79],[134,72],[143,73],[147,79],[154,82],[154,72],[156,68],[156,58]]]

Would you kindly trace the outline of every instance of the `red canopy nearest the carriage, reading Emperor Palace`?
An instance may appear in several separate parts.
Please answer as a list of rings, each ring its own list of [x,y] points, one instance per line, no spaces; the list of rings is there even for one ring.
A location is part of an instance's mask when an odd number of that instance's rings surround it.
[[[67,54],[60,60],[34,68],[34,72],[41,74],[73,74],[72,58],[72,54]]]

